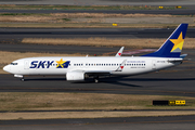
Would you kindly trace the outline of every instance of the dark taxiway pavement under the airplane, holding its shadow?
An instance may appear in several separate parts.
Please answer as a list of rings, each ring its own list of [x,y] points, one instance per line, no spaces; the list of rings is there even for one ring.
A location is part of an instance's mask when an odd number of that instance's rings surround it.
[[[21,81],[13,75],[0,75],[0,92],[77,92],[77,93],[116,93],[195,96],[195,70],[172,70],[153,73],[127,78],[101,78],[68,82],[61,78],[26,78]]]

